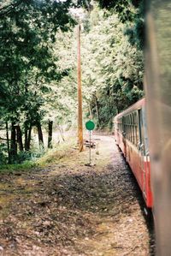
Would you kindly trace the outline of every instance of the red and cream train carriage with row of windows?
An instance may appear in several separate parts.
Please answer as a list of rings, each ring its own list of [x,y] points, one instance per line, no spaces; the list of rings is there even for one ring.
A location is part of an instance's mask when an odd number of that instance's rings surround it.
[[[145,116],[145,98],[115,116],[115,141],[133,170],[146,206],[151,208],[150,155]]]

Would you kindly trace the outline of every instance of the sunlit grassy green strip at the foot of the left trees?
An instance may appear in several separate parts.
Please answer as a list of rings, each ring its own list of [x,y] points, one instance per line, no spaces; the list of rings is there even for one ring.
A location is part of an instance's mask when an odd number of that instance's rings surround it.
[[[22,171],[32,171],[38,168],[43,168],[50,164],[57,164],[60,161],[68,158],[76,145],[75,138],[71,138],[62,144],[47,150],[41,158],[35,158],[30,161],[25,161],[22,164],[2,164],[0,172],[13,173]]]

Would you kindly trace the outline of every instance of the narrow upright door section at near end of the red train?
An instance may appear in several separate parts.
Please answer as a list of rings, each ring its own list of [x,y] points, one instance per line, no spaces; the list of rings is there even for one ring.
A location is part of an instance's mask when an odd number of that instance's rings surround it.
[[[145,191],[145,170],[144,170],[144,110],[139,110],[139,157],[140,157],[140,174],[142,189],[144,193],[144,198],[146,198],[146,191]]]

